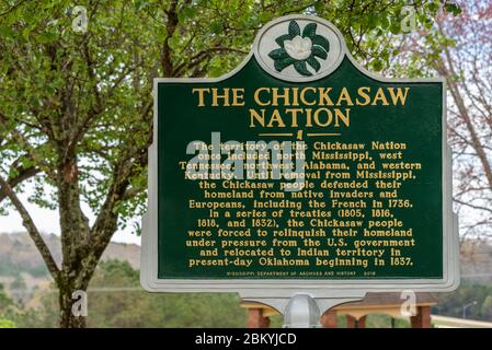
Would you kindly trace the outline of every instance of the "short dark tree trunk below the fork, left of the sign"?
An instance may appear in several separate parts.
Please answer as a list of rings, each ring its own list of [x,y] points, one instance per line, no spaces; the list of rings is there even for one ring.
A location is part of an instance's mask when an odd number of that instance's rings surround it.
[[[75,280],[75,278],[71,278]],[[60,307],[60,328],[85,328],[87,314],[83,312],[83,304],[87,300],[81,300],[80,290],[72,288],[73,281],[64,281],[58,285],[58,304]],[[73,294],[77,292],[76,294]],[[87,304],[85,304],[87,305]]]

